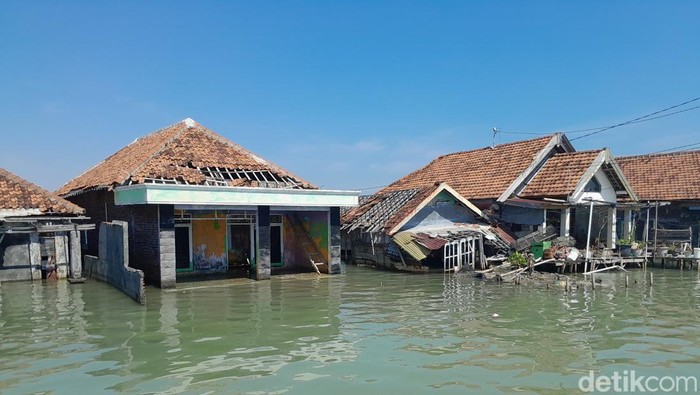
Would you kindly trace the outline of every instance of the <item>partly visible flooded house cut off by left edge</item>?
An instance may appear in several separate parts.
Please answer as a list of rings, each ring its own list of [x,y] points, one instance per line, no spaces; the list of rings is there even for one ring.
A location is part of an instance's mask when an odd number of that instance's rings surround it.
[[[80,278],[84,213],[0,168],[0,281]]]

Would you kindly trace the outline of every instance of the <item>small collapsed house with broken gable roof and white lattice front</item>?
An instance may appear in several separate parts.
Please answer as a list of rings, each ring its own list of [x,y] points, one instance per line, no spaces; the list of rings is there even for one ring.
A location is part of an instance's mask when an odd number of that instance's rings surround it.
[[[445,183],[374,195],[342,220],[355,263],[401,271],[484,267],[485,244],[509,248],[508,236]]]

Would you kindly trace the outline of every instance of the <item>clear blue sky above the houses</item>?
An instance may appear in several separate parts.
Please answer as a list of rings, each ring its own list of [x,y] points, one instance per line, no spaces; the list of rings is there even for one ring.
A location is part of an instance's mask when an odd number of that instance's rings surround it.
[[[0,1],[0,167],[51,190],[187,117],[361,189],[493,127],[599,127],[699,96],[698,1]],[[574,144],[696,142],[700,109]]]

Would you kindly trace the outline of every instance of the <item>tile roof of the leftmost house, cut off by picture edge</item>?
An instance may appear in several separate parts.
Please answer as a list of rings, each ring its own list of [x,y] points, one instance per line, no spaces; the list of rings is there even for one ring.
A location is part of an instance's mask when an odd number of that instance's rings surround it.
[[[0,168],[0,210],[39,209],[41,213],[83,214],[85,210]]]

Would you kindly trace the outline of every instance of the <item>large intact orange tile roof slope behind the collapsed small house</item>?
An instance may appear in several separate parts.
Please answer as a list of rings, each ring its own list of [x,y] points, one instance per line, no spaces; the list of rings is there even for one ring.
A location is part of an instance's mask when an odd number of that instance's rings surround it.
[[[470,200],[496,199],[556,135],[443,155],[380,193],[444,182]]]

